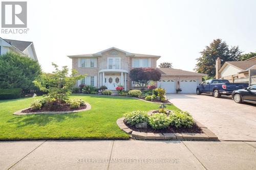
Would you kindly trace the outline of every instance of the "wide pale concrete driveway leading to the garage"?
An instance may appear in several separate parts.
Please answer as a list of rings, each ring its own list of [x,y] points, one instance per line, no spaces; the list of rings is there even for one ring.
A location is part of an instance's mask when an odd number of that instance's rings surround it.
[[[256,105],[237,104],[230,96],[167,94],[170,102],[188,111],[220,140],[256,141]]]

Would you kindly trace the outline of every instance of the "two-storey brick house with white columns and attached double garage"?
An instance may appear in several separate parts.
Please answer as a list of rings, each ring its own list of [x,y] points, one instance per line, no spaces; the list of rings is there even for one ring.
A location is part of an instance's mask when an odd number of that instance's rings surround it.
[[[157,68],[160,56],[135,54],[111,47],[107,50],[84,55],[68,56],[72,59],[72,68],[79,74],[88,74],[85,79],[79,80],[80,84],[100,87],[105,85],[110,90],[115,90],[118,85],[123,85],[125,90],[135,89],[138,86],[132,82],[129,72],[133,68],[152,67],[158,69],[162,76],[157,82],[158,87],[163,87],[168,93],[175,93],[182,88],[182,92],[196,92],[196,86],[201,83],[202,76],[196,72],[183,71],[173,68]]]

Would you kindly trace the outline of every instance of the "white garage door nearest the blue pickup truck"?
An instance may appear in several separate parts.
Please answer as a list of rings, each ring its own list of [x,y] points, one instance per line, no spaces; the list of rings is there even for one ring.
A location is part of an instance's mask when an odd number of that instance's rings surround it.
[[[180,88],[181,93],[196,93],[197,80],[181,80]]]

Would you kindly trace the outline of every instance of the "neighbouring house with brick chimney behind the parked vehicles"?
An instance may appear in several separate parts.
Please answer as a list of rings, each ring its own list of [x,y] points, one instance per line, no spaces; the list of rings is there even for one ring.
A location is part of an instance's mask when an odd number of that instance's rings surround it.
[[[249,83],[248,77],[254,77],[255,75],[256,56],[245,61],[226,61],[222,67],[220,58],[216,60],[217,79],[226,79],[230,82]],[[252,80],[254,84],[254,78]]]

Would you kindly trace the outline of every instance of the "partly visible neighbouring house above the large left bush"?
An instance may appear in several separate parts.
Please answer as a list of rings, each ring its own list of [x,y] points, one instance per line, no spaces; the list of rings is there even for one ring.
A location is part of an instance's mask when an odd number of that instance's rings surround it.
[[[3,39],[0,37],[0,55],[13,52],[37,60],[33,42]]]

